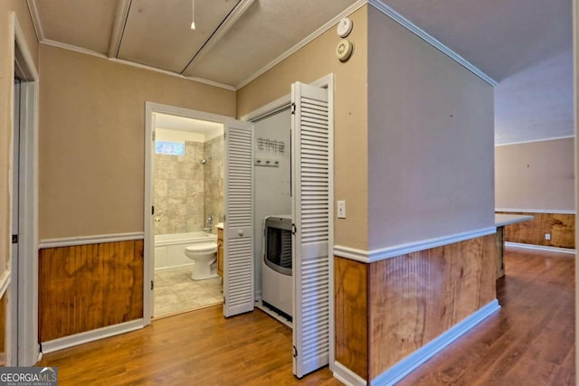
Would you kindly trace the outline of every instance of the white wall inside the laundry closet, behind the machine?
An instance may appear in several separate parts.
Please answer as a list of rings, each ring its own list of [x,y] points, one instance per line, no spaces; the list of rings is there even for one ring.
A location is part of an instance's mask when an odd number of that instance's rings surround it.
[[[255,237],[255,289],[261,292],[261,260],[263,230],[261,221],[271,214],[290,214],[290,128],[289,108],[255,123],[255,157],[280,161],[280,166],[255,166],[254,237]],[[284,152],[258,148],[258,138],[283,141]]]

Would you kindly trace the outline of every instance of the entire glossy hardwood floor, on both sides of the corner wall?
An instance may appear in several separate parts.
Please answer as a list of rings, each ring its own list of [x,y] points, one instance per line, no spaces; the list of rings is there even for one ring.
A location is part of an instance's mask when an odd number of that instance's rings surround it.
[[[506,249],[501,310],[399,385],[574,385],[573,255]],[[221,307],[44,355],[60,385],[339,385],[327,368],[296,379],[291,331],[256,309]]]

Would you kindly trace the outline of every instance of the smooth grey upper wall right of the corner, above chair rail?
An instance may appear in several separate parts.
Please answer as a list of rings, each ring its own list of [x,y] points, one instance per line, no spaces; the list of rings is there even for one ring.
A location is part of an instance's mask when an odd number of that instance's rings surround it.
[[[368,14],[368,249],[494,226],[493,88]]]

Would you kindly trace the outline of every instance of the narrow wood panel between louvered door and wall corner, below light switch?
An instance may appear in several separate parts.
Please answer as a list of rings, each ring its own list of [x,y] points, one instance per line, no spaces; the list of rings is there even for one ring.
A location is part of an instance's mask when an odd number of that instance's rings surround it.
[[[368,265],[336,257],[336,360],[368,379]]]

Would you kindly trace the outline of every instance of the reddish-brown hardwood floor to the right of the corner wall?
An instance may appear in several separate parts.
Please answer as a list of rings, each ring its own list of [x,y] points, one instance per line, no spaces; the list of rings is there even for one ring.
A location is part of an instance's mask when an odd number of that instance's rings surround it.
[[[398,385],[574,385],[574,255],[505,249],[497,314]]]

